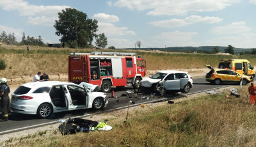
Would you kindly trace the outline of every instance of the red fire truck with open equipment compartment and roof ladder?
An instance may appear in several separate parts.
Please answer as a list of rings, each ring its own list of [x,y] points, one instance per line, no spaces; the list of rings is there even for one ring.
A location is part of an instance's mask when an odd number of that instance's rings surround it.
[[[111,90],[111,86],[140,88],[145,66],[146,61],[140,56],[136,58],[136,53],[73,52],[68,57],[68,81],[99,85],[105,93]]]

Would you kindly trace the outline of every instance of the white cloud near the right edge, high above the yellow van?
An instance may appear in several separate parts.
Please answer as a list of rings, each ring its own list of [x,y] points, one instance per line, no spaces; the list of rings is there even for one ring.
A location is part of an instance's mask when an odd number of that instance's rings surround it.
[[[250,31],[245,22],[232,22],[226,26],[213,27],[211,32],[215,35],[234,35]]]

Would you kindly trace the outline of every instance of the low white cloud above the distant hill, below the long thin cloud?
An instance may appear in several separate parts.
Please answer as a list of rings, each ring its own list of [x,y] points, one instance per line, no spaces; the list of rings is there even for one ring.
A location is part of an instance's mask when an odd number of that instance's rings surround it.
[[[166,32],[160,35],[153,36],[152,42],[148,43],[148,47],[183,47],[183,46],[198,46],[198,43],[193,42],[193,38],[197,35],[196,32]]]

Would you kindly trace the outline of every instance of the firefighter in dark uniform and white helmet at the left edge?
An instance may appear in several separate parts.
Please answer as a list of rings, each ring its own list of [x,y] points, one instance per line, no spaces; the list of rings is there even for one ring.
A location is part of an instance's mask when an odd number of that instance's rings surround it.
[[[1,112],[3,114],[3,119],[0,121],[8,121],[8,113],[10,113],[10,87],[7,84],[7,80],[5,78],[0,79],[1,87],[0,87],[0,97],[1,97]]]

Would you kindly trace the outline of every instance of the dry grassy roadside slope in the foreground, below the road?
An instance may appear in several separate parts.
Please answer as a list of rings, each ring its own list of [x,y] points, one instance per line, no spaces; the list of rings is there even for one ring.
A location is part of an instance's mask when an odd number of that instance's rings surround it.
[[[245,97],[229,94],[200,95],[156,107],[147,105],[126,112],[111,113],[110,131],[62,136],[58,128],[11,138],[6,146],[255,146],[256,107]],[[191,96],[188,96],[191,97]],[[170,107],[168,107],[170,105]],[[127,110],[127,109],[126,109]],[[104,116],[104,114],[103,114]],[[93,118],[92,118],[93,119]]]

